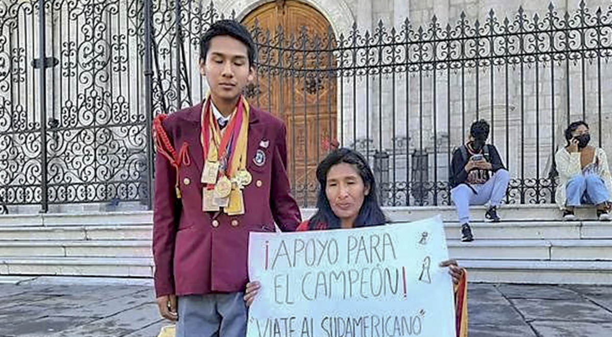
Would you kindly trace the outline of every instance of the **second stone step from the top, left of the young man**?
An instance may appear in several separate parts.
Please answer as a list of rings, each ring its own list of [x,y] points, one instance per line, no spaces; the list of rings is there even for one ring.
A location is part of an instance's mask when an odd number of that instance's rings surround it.
[[[0,227],[3,240],[151,240],[152,225]]]

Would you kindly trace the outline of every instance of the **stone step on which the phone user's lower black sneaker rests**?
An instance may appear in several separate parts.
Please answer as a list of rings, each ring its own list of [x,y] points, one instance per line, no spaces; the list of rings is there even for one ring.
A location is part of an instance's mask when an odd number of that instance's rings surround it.
[[[447,240],[453,259],[612,261],[612,240]]]

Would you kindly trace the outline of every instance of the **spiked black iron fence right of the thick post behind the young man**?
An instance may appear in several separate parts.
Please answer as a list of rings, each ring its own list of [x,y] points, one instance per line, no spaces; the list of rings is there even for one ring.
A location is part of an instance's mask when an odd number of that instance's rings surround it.
[[[156,31],[166,55],[158,95],[172,97],[163,104],[172,111],[206,91],[198,37],[220,15],[190,1],[162,7],[159,17],[181,17]],[[449,204],[452,151],[480,118],[513,176],[506,202],[554,202],[554,153],[572,119],[591,123],[598,145],[612,145],[602,129],[612,113],[612,88],[602,85],[612,75],[611,25],[612,8],[592,11],[584,2],[573,13],[551,5],[542,15],[520,8],[501,19],[491,10],[482,23],[462,14],[454,25],[406,19],[323,36],[256,25],[258,79],[246,94],[285,119],[288,171],[303,206],[313,205],[314,167],[329,138],[368,158],[384,205]]]

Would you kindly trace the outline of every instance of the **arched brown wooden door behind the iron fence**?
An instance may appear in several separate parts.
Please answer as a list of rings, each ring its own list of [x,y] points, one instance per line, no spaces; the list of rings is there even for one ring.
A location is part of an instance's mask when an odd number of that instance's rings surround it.
[[[327,51],[334,46],[334,40],[327,38],[332,35],[329,21],[299,1],[263,4],[242,23],[251,29],[256,21],[261,28],[256,40],[263,45],[269,41],[279,46],[277,28],[283,27],[283,51],[260,45],[260,66],[250,102],[285,121],[289,181],[300,205],[315,206],[316,166],[328,153],[337,130],[337,78],[326,71],[334,69],[336,62]]]

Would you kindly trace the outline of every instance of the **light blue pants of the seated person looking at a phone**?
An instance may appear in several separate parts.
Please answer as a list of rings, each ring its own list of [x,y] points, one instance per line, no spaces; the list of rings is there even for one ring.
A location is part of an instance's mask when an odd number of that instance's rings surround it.
[[[457,206],[459,223],[469,222],[469,205],[484,205],[489,203],[491,206],[501,205],[501,200],[506,196],[506,189],[510,182],[510,173],[507,170],[497,170],[484,184],[471,185],[460,184],[450,190],[450,197]],[[476,191],[476,193],[474,193]]]

